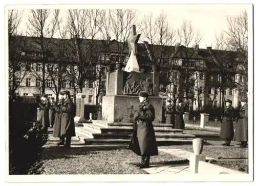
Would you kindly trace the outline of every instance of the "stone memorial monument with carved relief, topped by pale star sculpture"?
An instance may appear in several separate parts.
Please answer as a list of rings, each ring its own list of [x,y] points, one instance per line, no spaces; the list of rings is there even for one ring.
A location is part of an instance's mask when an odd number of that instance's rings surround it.
[[[133,25],[133,36],[129,39],[129,60],[123,70],[106,74],[106,95],[102,97],[102,120],[106,122],[131,123],[140,104],[138,94],[147,91],[148,100],[155,108],[153,123],[161,123],[162,98],[159,94],[159,72],[141,72],[136,43],[140,35]]]

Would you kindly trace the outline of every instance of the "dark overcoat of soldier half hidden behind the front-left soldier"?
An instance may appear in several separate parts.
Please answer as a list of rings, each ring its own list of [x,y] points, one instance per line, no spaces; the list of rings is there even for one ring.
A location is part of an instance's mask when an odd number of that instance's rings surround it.
[[[61,116],[62,112],[60,109],[60,105],[62,105],[63,100],[58,100],[55,102],[54,112],[55,112],[55,120],[53,125],[53,136],[60,137],[60,127],[61,127]]]

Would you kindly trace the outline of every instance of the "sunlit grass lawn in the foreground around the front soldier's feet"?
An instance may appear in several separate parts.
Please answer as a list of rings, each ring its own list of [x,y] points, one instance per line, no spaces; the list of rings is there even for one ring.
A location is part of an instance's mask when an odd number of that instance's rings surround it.
[[[82,144],[65,149],[56,143],[50,140],[45,146],[44,174],[147,174],[136,166],[140,156],[130,149]],[[151,164],[168,164],[179,160],[182,159],[159,151],[158,156],[151,157]],[[182,162],[185,163],[185,160]]]

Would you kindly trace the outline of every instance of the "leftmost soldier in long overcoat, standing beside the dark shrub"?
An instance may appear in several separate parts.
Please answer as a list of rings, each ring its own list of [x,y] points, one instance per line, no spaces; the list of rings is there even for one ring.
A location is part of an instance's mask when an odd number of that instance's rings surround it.
[[[50,103],[47,98],[47,94],[43,94],[41,96],[41,101],[39,103],[39,107],[41,110],[40,122],[42,124],[42,130],[44,130],[44,132],[47,132],[47,129],[50,126],[50,121],[49,121]]]

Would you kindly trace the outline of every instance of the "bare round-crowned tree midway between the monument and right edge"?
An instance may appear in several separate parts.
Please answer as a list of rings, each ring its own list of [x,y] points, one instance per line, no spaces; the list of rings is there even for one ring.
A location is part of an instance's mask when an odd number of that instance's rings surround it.
[[[197,74],[205,67],[205,64],[197,61],[199,56],[198,44],[202,40],[202,35],[198,30],[195,31],[193,25],[189,21],[184,21],[180,29],[177,30],[177,33],[179,43],[175,46],[175,51],[169,62],[173,71],[170,74],[178,74],[178,76],[170,75],[169,81],[171,85],[177,86],[177,88],[168,89],[169,91],[167,92],[173,96],[176,95],[174,101],[176,101],[177,98],[186,98],[186,105],[188,105],[189,100],[191,100],[191,102],[194,101],[194,87],[198,81]],[[193,43],[195,43],[194,48],[189,47]]]

